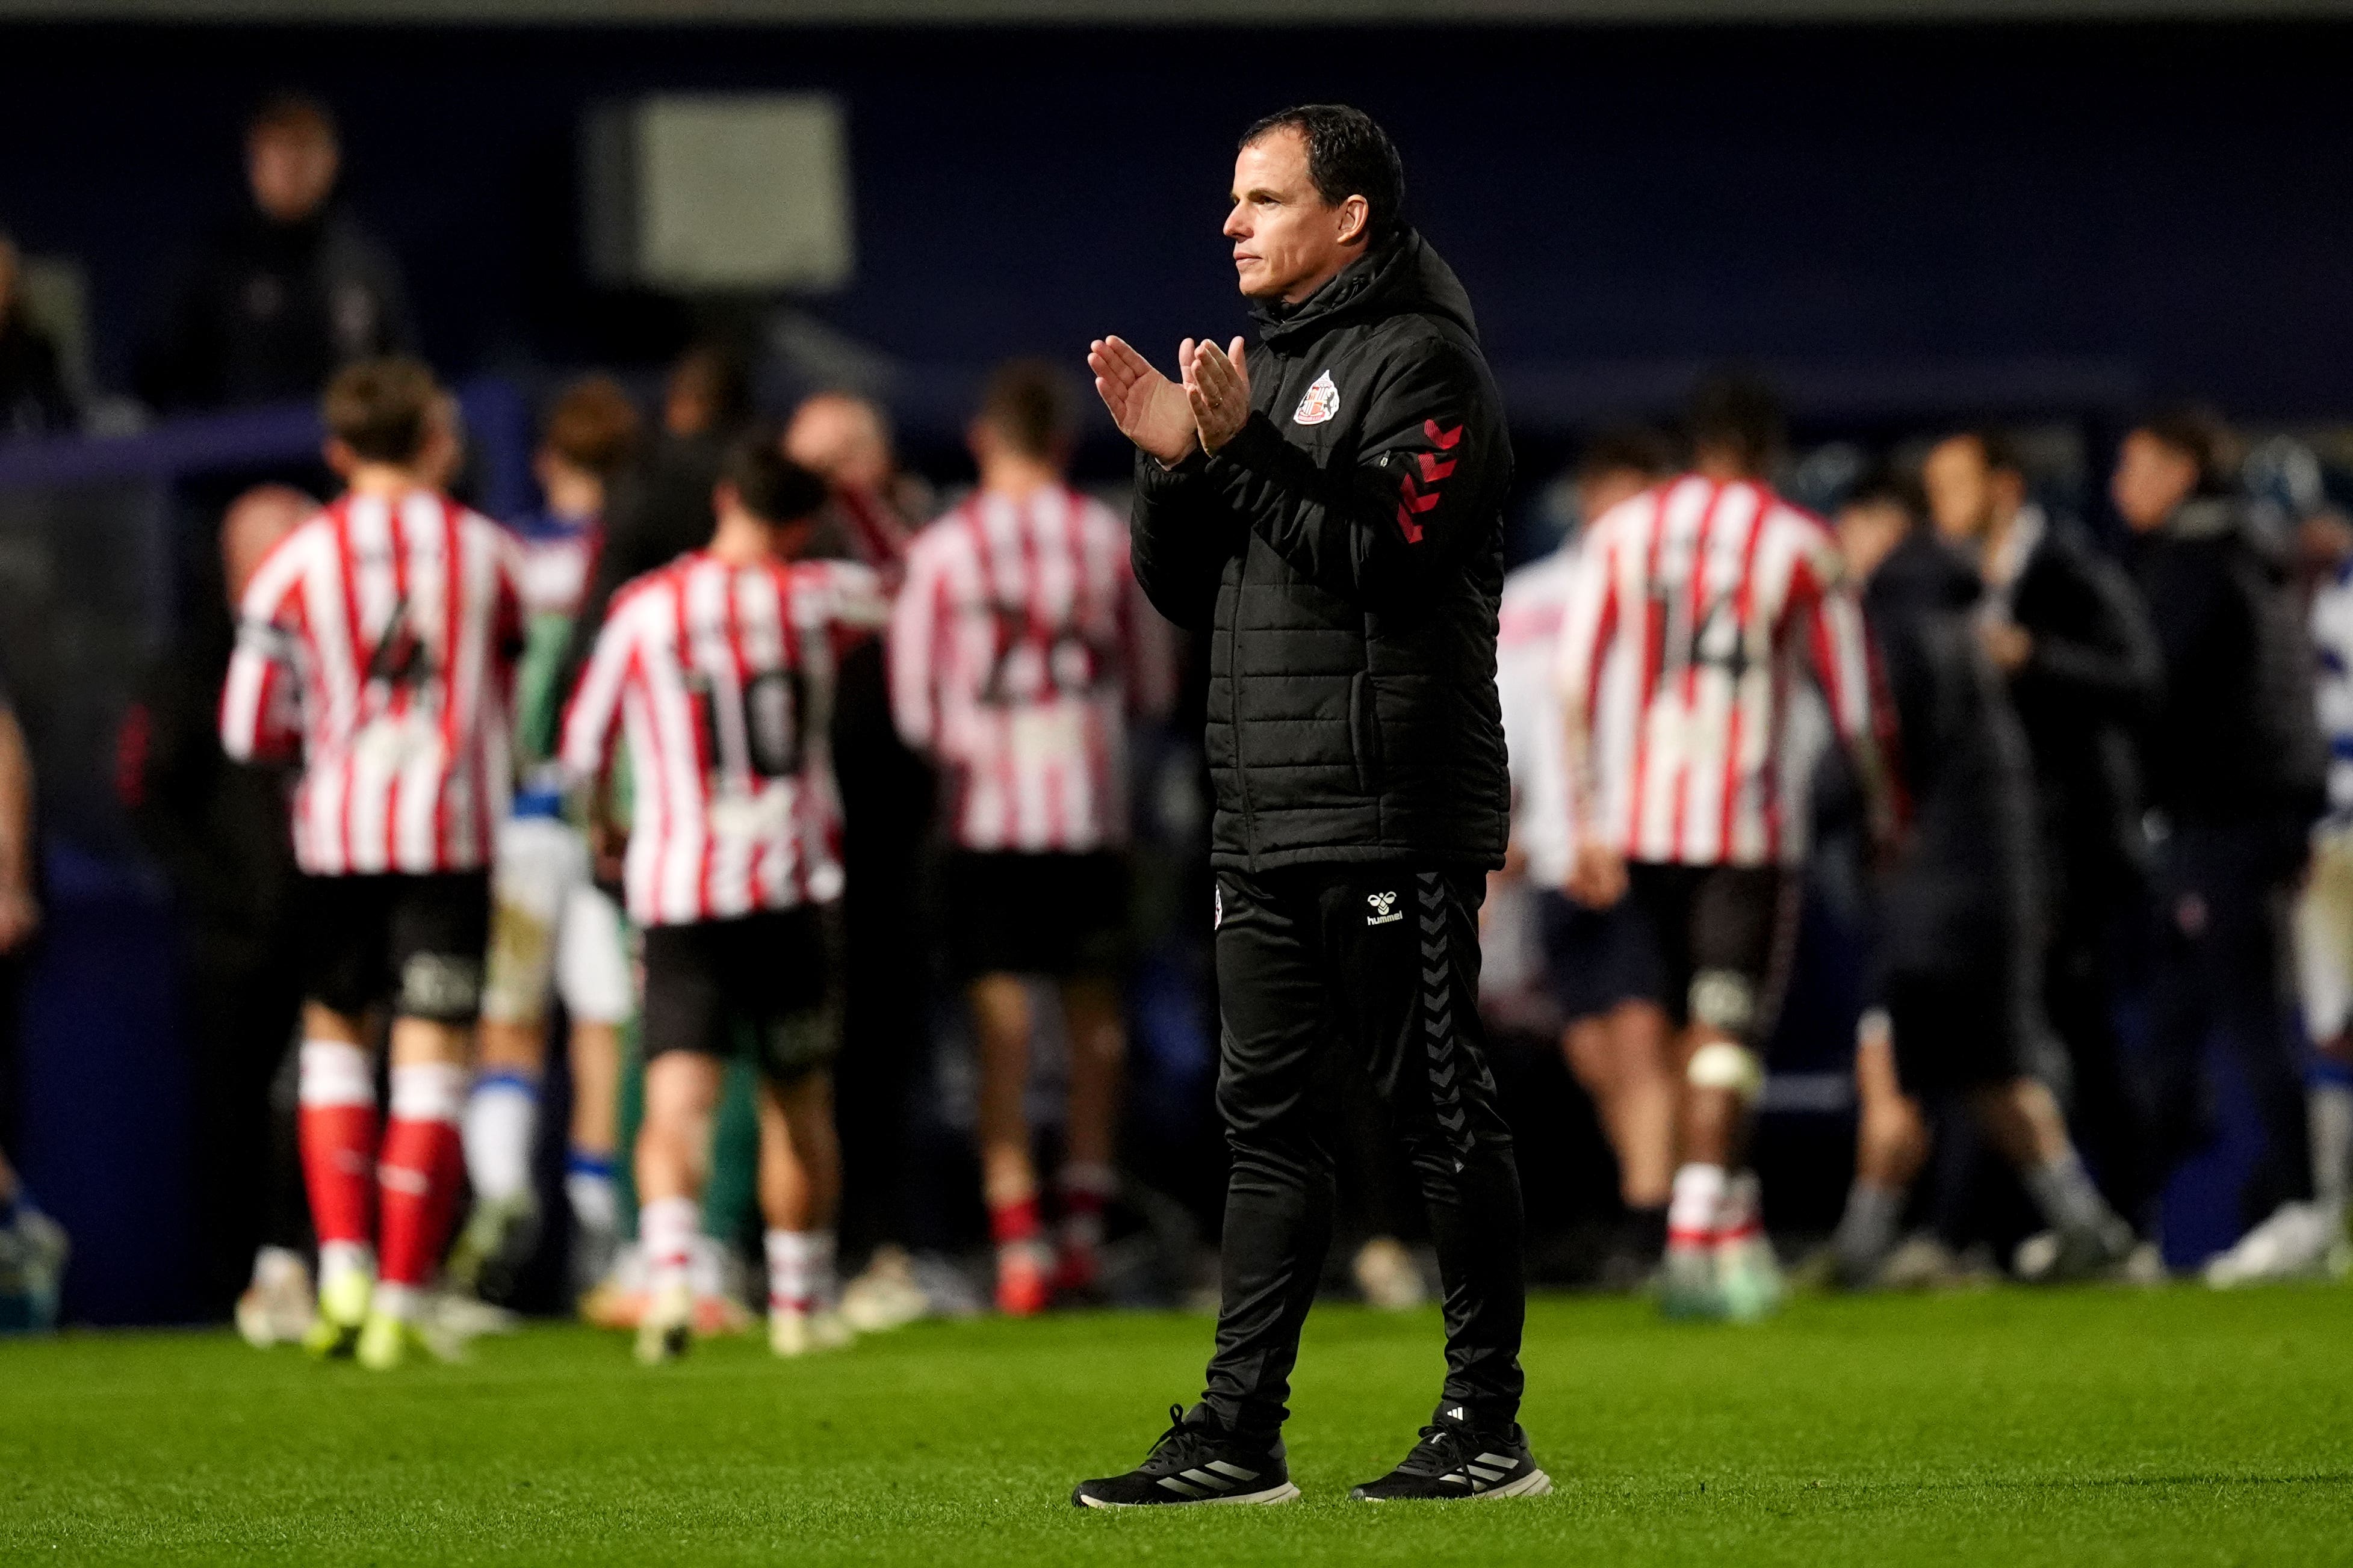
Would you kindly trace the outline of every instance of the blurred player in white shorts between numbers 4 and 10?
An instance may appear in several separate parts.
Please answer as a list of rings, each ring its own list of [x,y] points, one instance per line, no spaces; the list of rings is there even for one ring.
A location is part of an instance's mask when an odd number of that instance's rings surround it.
[[[602,534],[605,489],[638,444],[638,409],[609,376],[558,393],[532,458],[544,508],[506,527],[522,592],[518,736],[551,733],[565,691],[558,665],[588,590]],[[532,1150],[558,997],[569,1025],[572,1128],[565,1197],[572,1208],[572,1286],[586,1293],[612,1265],[619,1199],[612,1157],[619,1119],[621,1025],[635,1011],[621,910],[598,886],[588,837],[565,820],[560,769],[518,745],[513,816],[499,825],[492,865],[489,959],[482,1032],[466,1098],[466,1175],[473,1213],[449,1255],[459,1288],[501,1300],[539,1237]]]

